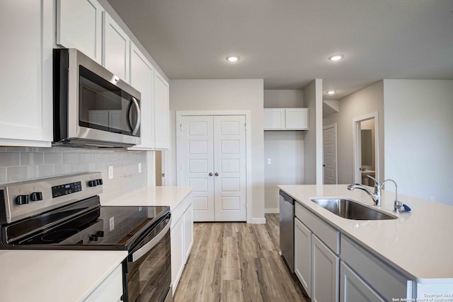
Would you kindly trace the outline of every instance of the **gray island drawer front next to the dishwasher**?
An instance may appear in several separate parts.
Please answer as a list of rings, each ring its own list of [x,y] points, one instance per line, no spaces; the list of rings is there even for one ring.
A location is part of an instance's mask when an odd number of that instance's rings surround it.
[[[340,253],[340,232],[335,228],[322,221],[319,217],[304,208],[299,203],[295,203],[295,213],[298,219],[302,221],[319,239],[325,243],[328,248],[336,254]]]

